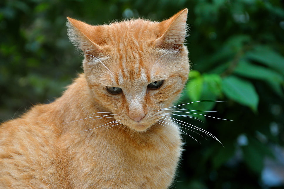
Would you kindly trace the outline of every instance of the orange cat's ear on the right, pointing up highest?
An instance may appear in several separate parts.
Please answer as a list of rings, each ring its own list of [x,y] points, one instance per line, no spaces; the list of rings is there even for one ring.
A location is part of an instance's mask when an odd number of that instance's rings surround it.
[[[179,11],[170,19],[159,23],[161,36],[155,40],[155,45],[177,50],[182,48],[187,32],[187,11]]]

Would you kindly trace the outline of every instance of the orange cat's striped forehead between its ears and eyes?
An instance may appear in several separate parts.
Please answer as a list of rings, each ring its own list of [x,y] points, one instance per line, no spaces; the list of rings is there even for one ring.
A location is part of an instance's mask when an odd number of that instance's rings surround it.
[[[138,36],[130,33],[124,35],[127,36],[116,40],[108,49],[107,64],[113,72],[112,80],[119,85],[129,82],[139,85],[159,77],[160,66],[155,63],[155,48],[146,39],[139,40]]]

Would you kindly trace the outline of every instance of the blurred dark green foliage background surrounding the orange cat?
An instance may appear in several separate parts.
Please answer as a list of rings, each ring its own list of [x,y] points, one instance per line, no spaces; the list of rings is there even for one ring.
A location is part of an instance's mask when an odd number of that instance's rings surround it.
[[[82,72],[66,16],[90,24],[129,17],[162,21],[188,8],[191,78],[180,104],[211,132],[186,131],[173,188],[284,187],[284,1],[2,0],[0,122],[60,97]],[[198,113],[198,112],[195,112]],[[200,133],[200,132],[199,132]],[[201,134],[201,133],[200,133]]]

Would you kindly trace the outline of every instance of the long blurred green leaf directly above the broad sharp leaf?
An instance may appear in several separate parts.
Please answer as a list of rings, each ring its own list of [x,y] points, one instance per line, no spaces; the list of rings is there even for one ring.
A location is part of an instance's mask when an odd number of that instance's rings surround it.
[[[284,84],[284,77],[274,70],[241,60],[234,73],[248,78],[264,80],[277,94],[283,96],[281,85]]]

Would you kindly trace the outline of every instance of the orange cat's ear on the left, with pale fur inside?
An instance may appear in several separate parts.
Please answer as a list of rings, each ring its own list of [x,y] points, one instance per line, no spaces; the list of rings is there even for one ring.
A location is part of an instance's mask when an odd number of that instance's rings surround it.
[[[83,50],[85,55],[96,56],[102,53],[103,48],[96,40],[96,31],[101,30],[101,26],[92,26],[85,22],[67,17],[68,36],[70,41],[79,49]]]

